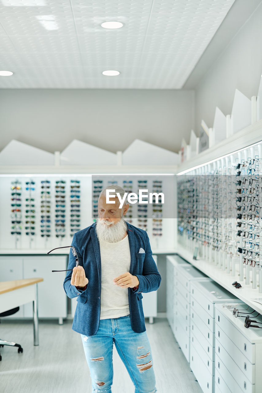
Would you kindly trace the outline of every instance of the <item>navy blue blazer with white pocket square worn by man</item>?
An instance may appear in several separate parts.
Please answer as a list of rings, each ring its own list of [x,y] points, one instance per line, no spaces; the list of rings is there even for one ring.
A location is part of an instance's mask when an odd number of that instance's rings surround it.
[[[136,275],[139,280],[139,287],[136,290],[128,288],[130,320],[133,331],[141,333],[146,330],[141,293],[156,291],[161,283],[161,276],[152,257],[147,232],[128,222],[126,224],[131,257],[129,272]],[[71,285],[71,271],[67,273],[63,284],[69,298],[77,297],[72,329],[85,336],[93,336],[97,332],[100,321],[101,257],[95,225],[94,222],[87,228],[76,232],[71,244],[75,247],[79,264],[84,267],[88,278],[86,289],[80,290],[75,285]],[[143,248],[145,253],[139,253],[140,248]],[[68,269],[74,267],[75,257],[70,252]]]

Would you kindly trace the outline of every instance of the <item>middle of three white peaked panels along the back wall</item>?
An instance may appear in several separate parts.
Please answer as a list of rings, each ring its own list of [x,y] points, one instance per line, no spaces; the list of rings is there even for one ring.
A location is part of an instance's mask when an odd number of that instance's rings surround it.
[[[117,165],[117,155],[74,139],[60,155],[61,165]]]

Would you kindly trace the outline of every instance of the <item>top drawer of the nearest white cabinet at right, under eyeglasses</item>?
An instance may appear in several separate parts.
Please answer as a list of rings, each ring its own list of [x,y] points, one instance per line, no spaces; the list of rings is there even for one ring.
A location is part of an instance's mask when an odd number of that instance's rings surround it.
[[[235,317],[233,317],[235,318]],[[242,318],[243,319],[243,318]],[[230,338],[231,341],[240,349],[240,351],[247,357],[249,362],[255,363],[255,344],[251,344],[247,338],[236,329],[225,316],[216,310],[215,322],[218,325],[218,329],[222,329],[225,334]]]

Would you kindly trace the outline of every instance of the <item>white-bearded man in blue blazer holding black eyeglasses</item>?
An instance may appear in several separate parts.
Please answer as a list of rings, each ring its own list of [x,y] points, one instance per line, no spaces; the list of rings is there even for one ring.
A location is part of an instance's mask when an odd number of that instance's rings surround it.
[[[123,198],[125,190],[115,189]],[[142,292],[159,288],[161,276],[152,257],[147,232],[125,221],[128,204],[120,209],[106,203],[106,189],[98,200],[94,224],[73,236],[64,290],[69,298],[77,296],[72,329],[81,334],[93,392],[111,393],[113,382],[113,345],[125,364],[135,393],[155,393],[156,379],[150,343],[145,328]],[[111,191],[112,194],[112,191]]]

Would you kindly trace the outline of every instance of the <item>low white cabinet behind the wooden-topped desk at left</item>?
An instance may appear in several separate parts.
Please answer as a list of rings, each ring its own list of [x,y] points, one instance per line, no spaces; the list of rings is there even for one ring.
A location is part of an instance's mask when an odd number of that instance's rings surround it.
[[[65,270],[68,264],[67,255],[5,255],[0,256],[0,280],[42,277],[44,281],[38,283],[38,317],[62,318],[67,316],[66,293],[63,282],[66,272],[52,272]],[[32,303],[19,305],[20,310],[5,317],[9,319],[32,318]]]

